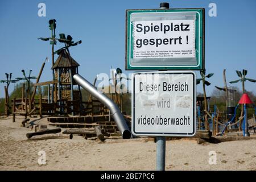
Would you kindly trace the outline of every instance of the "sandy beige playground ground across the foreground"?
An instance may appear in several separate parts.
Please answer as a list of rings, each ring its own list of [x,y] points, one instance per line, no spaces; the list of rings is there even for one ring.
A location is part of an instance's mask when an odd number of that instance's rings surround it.
[[[155,170],[156,143],[151,140],[28,140],[31,130],[20,127],[21,122],[0,119],[0,170]],[[38,164],[39,151],[46,152],[46,165]],[[217,164],[209,164],[210,151],[216,152]],[[256,140],[167,141],[166,170],[256,170]]]

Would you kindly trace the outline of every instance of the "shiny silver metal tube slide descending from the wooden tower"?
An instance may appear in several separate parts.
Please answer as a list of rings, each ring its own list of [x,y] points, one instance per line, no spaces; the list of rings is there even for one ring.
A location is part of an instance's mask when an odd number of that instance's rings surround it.
[[[131,132],[129,130],[129,127],[127,126],[125,118],[123,118],[123,115],[119,110],[118,106],[104,93],[98,92],[98,90],[92,84],[90,84],[89,81],[85,80],[85,78],[83,78],[79,74],[74,75],[73,78],[77,82],[77,84],[82,86],[82,88],[92,94],[93,97],[96,97],[99,101],[101,101],[102,104],[109,108],[110,112],[113,115],[114,121],[117,123],[118,130],[122,134],[122,138],[131,138]]]

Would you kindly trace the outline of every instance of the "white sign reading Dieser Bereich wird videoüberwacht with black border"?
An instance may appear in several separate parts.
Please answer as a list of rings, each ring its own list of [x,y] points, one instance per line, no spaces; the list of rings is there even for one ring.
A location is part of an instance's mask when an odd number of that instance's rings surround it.
[[[133,135],[195,135],[195,72],[133,73],[132,79]]]

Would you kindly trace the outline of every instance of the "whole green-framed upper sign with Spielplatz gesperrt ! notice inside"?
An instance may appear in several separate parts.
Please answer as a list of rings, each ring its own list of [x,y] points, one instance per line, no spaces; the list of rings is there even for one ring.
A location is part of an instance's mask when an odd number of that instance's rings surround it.
[[[199,9],[126,10],[126,70],[204,69]]]

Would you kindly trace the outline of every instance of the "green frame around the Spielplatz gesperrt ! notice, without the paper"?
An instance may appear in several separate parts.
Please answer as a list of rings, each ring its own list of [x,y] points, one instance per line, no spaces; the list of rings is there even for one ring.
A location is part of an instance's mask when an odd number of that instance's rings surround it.
[[[174,65],[134,65],[133,60],[133,22],[131,16],[134,14],[158,14],[163,13],[175,13],[195,14],[195,60],[193,64],[179,64],[179,58],[169,58],[172,61],[176,61],[177,64]],[[189,8],[189,9],[145,9],[145,10],[126,10],[126,51],[125,51],[125,69],[126,70],[203,70],[205,68],[205,53],[204,53],[204,42],[205,37],[205,9],[204,8]],[[168,61],[168,60],[167,60]],[[181,62],[180,62],[181,63]]]

